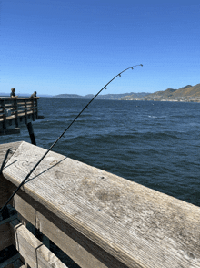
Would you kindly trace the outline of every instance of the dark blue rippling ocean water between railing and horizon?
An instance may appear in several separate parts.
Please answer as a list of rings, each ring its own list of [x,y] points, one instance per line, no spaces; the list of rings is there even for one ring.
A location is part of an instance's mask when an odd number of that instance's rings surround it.
[[[40,98],[37,145],[48,149],[88,101]],[[16,140],[30,142],[26,126],[0,137]],[[97,99],[53,150],[200,206],[199,103]]]

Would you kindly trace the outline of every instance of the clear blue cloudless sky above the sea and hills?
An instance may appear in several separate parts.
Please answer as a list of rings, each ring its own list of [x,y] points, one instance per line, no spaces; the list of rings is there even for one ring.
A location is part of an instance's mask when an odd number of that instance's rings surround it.
[[[155,92],[200,83],[200,2],[1,0],[0,92]]]

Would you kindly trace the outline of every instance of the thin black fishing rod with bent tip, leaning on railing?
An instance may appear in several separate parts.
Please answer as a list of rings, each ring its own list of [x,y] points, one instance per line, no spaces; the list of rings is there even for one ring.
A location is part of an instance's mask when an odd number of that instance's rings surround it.
[[[85,108],[88,108],[88,106],[90,105],[90,103],[99,95],[99,93],[101,93],[104,89],[107,89],[106,87],[116,78],[116,77],[121,77],[121,74],[122,73],[124,73],[126,70],[128,70],[128,69],[134,69],[134,67],[137,67],[137,66],[143,66],[142,64],[138,64],[138,65],[135,65],[135,66],[132,66],[132,67],[128,67],[128,68],[126,68],[124,71],[122,71],[122,72],[120,72],[119,74],[117,74],[115,77],[113,77],[113,79],[111,79],[106,85],[105,85],[105,87],[103,87],[102,89],[100,89],[99,91],[98,91],[98,93],[96,93],[95,94],[95,97],[94,98],[92,98],[88,103],[87,103],[87,105],[85,106]],[[34,166],[34,168],[32,169],[32,170],[30,170],[29,171],[29,173],[26,175],[26,177],[25,177],[25,179],[19,184],[19,186],[16,188],[16,190],[13,192],[13,194],[11,195],[11,197],[5,202],[5,205],[0,209],[0,213],[2,213],[4,210],[5,210],[5,207],[6,207],[6,205],[9,203],[9,201],[11,201],[12,200],[12,198],[15,196],[15,193],[17,192],[17,191],[19,191],[19,189],[25,184],[25,181],[30,177],[30,175],[34,172],[34,170],[36,169],[36,167],[40,164],[40,162],[42,161],[42,160],[44,160],[45,159],[45,156],[47,155],[47,153],[55,146],[55,144],[57,143],[57,141],[59,140],[59,139],[61,139],[63,136],[64,136],[64,134],[65,134],[65,132],[74,124],[74,122],[75,122],[75,120],[77,119],[77,118],[79,118],[80,117],[80,115],[83,113],[83,111],[85,110],[85,108],[83,108],[80,112],[79,112],[79,114],[75,117],[75,119],[68,125],[68,127],[64,130],[64,132],[55,140],[55,142],[52,144],[52,146],[49,148],[49,149],[47,149],[46,150],[46,152],[45,152],[45,154],[41,157],[41,159],[40,160],[38,160],[38,162],[35,164],[35,166]]]

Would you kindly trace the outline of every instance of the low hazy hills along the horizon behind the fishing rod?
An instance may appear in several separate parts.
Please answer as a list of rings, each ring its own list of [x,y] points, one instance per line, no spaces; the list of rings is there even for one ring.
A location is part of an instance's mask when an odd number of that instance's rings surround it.
[[[146,92],[141,92],[141,93],[123,93],[123,94],[105,94],[105,95],[98,95],[96,98],[98,99],[120,99],[123,98],[127,95],[132,95],[135,96],[135,98],[143,98],[146,95],[148,95],[149,93]],[[77,94],[59,94],[59,95],[55,95],[53,96],[53,98],[94,98],[95,95],[93,94],[88,94],[85,96],[81,96],[81,95],[77,95]]]

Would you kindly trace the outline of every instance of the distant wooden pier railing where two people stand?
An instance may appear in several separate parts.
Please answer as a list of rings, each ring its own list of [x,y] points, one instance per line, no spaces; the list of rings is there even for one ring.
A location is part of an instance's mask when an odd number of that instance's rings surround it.
[[[0,129],[14,129],[38,119],[36,98],[0,98]]]

